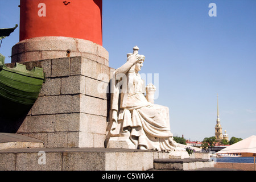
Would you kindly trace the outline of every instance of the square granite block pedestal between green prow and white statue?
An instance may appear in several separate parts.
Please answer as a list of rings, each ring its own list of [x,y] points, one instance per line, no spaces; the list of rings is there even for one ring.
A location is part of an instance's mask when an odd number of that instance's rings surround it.
[[[83,56],[21,64],[42,67],[46,82],[16,133],[42,140],[47,148],[104,147],[114,69]]]

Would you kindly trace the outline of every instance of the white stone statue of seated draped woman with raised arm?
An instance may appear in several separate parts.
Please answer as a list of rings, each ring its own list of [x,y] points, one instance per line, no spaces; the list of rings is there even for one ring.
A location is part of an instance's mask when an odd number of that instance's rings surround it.
[[[133,148],[156,151],[181,151],[172,138],[169,109],[154,104],[155,86],[147,85],[139,75],[145,57],[127,54],[127,62],[116,69],[112,80],[112,107],[110,110],[110,148]]]

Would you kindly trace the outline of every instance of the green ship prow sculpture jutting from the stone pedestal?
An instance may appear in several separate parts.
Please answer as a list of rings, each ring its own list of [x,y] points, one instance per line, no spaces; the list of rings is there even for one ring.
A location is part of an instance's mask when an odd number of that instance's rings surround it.
[[[6,67],[5,56],[0,53],[0,109],[7,113],[22,114],[34,105],[44,82],[43,68],[15,63]],[[3,113],[4,114],[4,113]]]

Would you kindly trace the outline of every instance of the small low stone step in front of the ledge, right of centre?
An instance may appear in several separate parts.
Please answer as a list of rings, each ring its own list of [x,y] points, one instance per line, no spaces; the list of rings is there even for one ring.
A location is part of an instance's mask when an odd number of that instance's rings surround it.
[[[157,170],[193,170],[214,167],[209,159],[154,159],[154,169]]]

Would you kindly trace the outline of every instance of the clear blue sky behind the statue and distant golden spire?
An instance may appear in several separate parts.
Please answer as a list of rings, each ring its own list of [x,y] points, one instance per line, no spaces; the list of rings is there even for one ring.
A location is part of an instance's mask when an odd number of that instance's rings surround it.
[[[217,16],[209,16],[210,3]],[[19,24],[18,5],[0,0],[0,28]],[[256,135],[255,0],[103,0],[102,15],[109,66],[120,67],[139,47],[141,73],[159,74],[155,104],[169,107],[175,136],[214,136],[217,93],[229,138]],[[19,27],[0,48],[6,63],[18,42]]]

